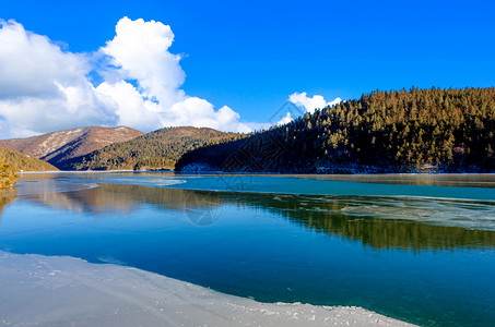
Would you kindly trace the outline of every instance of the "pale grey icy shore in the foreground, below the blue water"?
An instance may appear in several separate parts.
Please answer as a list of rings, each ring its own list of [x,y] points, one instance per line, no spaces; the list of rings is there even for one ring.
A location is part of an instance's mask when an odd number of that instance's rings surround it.
[[[137,268],[0,251],[5,326],[414,326],[356,306],[261,303]]]

